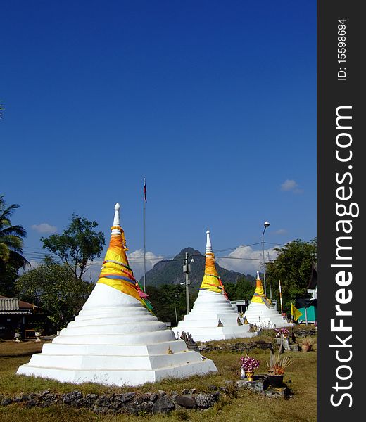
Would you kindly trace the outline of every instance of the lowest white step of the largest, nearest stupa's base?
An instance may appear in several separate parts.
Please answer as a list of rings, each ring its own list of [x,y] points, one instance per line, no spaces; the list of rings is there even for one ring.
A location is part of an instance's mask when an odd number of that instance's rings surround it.
[[[136,369],[119,370],[108,369],[59,369],[53,367],[37,367],[25,364],[20,366],[18,374],[49,378],[62,383],[99,383],[103,385],[124,385],[137,386],[144,383],[154,383],[163,378],[187,378],[194,375],[206,375],[210,372],[217,372],[217,369],[210,359],[202,360],[201,355],[195,352],[201,362],[187,362],[177,366],[167,366],[156,370]],[[101,357],[102,358],[102,357]],[[108,357],[111,359],[111,357]]]

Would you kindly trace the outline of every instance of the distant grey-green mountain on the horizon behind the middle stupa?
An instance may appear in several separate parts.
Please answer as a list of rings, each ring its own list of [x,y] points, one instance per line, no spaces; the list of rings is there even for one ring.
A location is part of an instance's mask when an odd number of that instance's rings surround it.
[[[194,256],[194,262],[191,263],[189,280],[193,287],[196,286],[198,288],[202,283],[203,273],[205,271],[205,256],[199,250],[194,250],[194,248],[182,249],[172,260],[163,260],[155,264],[150,271],[146,272],[146,286],[184,283],[183,262],[186,252]],[[229,271],[220,267],[217,262],[216,268],[224,286],[225,283],[236,283],[239,277],[244,276],[244,274],[239,272]],[[246,274],[246,279],[255,281],[255,278],[250,274]],[[144,276],[141,277],[140,283],[144,283]]]

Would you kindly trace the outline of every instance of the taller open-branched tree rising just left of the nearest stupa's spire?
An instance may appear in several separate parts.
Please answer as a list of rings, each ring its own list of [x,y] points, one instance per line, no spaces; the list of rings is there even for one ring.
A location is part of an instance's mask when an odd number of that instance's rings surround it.
[[[53,234],[41,238],[43,248],[57,255],[67,265],[74,276],[81,279],[88,269],[88,264],[95,257],[100,257],[106,244],[101,231],[95,231],[97,222],[72,214],[72,221],[63,234]]]

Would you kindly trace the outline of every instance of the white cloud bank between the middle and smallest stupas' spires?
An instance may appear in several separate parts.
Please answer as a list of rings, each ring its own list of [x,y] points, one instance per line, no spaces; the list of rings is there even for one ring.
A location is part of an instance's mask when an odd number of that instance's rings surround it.
[[[265,262],[276,257],[274,248],[265,250]],[[239,246],[226,257],[216,258],[216,261],[221,267],[243,274],[255,276],[257,271],[263,272],[263,250],[253,250],[250,246]]]

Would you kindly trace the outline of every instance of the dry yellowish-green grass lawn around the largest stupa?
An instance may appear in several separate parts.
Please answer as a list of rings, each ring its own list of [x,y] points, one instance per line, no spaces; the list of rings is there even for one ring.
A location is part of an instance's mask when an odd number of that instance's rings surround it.
[[[298,338],[301,341],[301,338]],[[316,338],[315,338],[316,340]],[[246,343],[250,339],[223,340],[222,345]],[[96,394],[111,392],[154,392],[165,390],[166,392],[182,392],[184,388],[196,388],[200,392],[209,392],[209,385],[225,385],[225,380],[237,380],[239,378],[240,352],[227,350],[203,352],[209,359],[213,359],[218,373],[208,376],[194,376],[185,380],[168,379],[156,384],[145,384],[139,388],[110,388],[92,383],[73,385],[63,384],[57,381],[42,378],[32,378],[15,375],[18,366],[29,362],[34,352],[42,349],[42,343],[34,341],[14,343],[6,341],[0,343],[0,394],[4,396],[18,395],[20,392],[42,392],[50,390],[55,393],[80,390],[84,394],[93,392]],[[255,373],[266,373],[266,360],[269,361],[269,350],[255,349],[251,356],[260,360],[260,368]],[[65,405],[55,405],[46,409],[26,409],[21,404],[11,404],[6,407],[0,406],[0,421],[4,422],[39,422],[39,421],[260,421],[260,422],[315,422],[316,399],[317,399],[317,352],[316,343],[313,352],[288,352],[283,356],[292,357],[294,363],[287,369],[284,382],[291,388],[293,397],[288,400],[270,399],[255,395],[251,392],[240,390],[237,395],[222,396],[212,409],[205,411],[179,409],[170,415],[145,415],[132,416],[127,414],[96,415],[92,411],[74,409]]]

